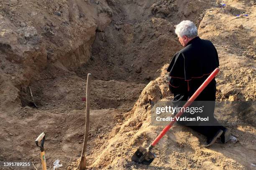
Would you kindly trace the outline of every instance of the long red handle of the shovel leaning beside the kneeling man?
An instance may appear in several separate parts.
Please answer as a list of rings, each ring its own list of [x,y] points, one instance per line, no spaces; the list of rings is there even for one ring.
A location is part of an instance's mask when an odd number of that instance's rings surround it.
[[[195,93],[189,98],[189,100],[184,104],[184,108],[186,109],[187,107],[189,107],[189,105],[197,98],[198,95],[200,95],[200,93],[202,92],[202,90],[205,89],[205,87],[212,81],[212,79],[218,74],[218,72],[220,72],[219,68],[216,68],[210,75],[209,77],[207,77],[207,79],[202,83],[202,85],[197,89],[197,91],[195,91]],[[176,115],[175,117],[180,117],[183,112],[182,110],[185,109],[181,109]],[[167,125],[162,131],[161,133],[156,137],[156,139],[151,143],[152,146],[155,146],[159,140],[166,134],[166,132],[172,127],[172,125],[176,122],[176,119],[173,119],[172,122],[169,123],[169,125]]]

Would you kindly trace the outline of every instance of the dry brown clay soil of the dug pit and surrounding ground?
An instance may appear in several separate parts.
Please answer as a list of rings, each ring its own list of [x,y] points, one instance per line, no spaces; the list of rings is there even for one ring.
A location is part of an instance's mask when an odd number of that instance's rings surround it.
[[[226,6],[211,0],[1,0],[0,163],[33,161],[41,169],[34,141],[45,132],[47,168],[59,159],[59,170],[76,170],[82,97],[92,73],[89,169],[254,170],[256,7],[253,0],[222,2]],[[150,166],[131,162],[164,128],[150,125],[151,108],[172,100],[165,70],[182,49],[174,26],[185,19],[218,50],[217,100],[225,104],[215,115],[238,143],[204,148],[202,135],[174,126],[154,148]],[[239,109],[229,98],[249,105]]]

